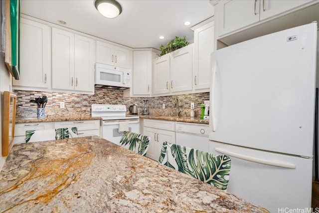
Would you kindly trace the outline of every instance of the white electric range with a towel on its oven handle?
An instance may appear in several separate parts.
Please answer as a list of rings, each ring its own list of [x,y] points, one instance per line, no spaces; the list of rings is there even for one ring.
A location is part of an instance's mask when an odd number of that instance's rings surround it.
[[[117,145],[123,131],[140,133],[139,116],[126,116],[125,105],[92,104],[92,117],[101,117],[101,137]]]

